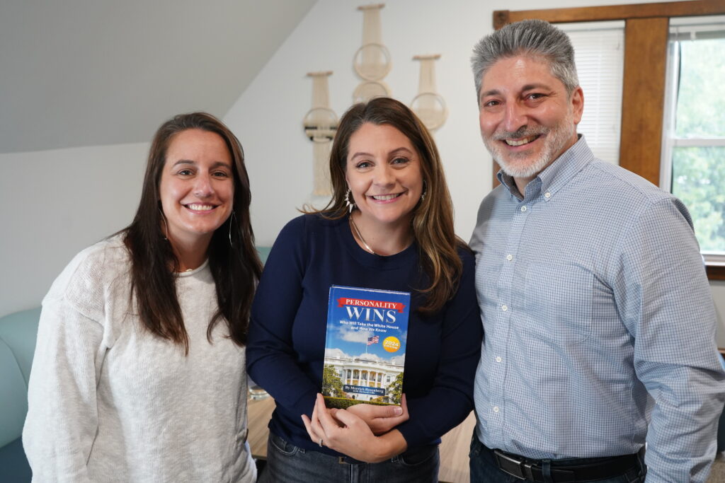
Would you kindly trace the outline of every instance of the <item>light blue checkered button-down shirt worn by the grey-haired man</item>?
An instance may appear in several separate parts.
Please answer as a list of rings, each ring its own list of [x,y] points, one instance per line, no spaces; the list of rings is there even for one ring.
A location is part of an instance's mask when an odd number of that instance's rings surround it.
[[[498,177],[471,239],[481,442],[591,458],[636,453],[646,438],[647,482],[704,482],[725,375],[687,209],[595,159],[583,137],[523,198]]]

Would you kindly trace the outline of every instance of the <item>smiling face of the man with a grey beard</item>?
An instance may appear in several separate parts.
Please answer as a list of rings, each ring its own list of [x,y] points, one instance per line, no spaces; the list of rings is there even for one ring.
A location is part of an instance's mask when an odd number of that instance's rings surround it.
[[[542,59],[500,59],[484,73],[479,96],[484,144],[510,176],[532,178],[576,143],[581,88],[570,96]]]

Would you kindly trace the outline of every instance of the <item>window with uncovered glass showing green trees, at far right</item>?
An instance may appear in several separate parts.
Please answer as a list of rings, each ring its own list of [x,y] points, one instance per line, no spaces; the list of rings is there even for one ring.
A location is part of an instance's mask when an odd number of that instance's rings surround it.
[[[725,263],[725,17],[670,22],[661,182],[692,215],[708,263]]]

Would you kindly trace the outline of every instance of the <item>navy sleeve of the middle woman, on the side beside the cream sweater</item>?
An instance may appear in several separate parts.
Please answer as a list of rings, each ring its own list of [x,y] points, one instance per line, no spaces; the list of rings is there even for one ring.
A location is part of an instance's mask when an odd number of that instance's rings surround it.
[[[252,304],[247,371],[287,411],[312,416],[319,388],[297,364],[292,328],[305,274],[304,217],[280,232]]]

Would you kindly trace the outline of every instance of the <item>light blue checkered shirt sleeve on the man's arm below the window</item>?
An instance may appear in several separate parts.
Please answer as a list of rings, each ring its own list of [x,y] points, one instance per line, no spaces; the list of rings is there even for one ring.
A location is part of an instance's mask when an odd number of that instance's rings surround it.
[[[634,337],[634,370],[655,403],[647,483],[705,482],[724,374],[710,287],[681,202],[667,198],[645,206],[624,238],[613,290]]]

